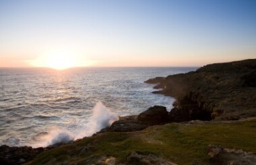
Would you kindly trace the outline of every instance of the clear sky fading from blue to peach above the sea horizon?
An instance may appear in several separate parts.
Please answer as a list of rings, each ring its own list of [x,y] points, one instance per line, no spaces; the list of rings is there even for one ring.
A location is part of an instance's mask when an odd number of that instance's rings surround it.
[[[252,0],[0,0],[0,67],[203,66],[256,58]]]

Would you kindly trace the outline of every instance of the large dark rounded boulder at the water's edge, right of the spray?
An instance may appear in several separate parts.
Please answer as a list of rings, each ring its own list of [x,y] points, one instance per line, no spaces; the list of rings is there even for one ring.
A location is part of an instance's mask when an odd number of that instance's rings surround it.
[[[148,125],[157,125],[168,123],[168,111],[166,111],[166,107],[155,105],[154,107],[150,107],[147,111],[143,111],[138,115],[138,121],[143,124]]]

